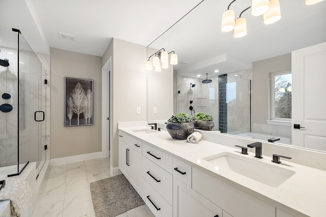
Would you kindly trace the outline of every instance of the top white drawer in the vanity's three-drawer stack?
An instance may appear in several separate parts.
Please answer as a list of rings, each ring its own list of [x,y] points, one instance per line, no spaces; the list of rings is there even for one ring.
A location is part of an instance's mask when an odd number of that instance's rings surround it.
[[[169,154],[143,143],[143,156],[172,174],[173,160]]]

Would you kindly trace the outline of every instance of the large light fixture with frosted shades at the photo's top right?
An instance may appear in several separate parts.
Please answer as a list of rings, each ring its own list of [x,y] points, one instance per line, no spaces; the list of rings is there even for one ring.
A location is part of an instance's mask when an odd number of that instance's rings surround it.
[[[233,0],[228,9],[222,14],[221,31],[224,33],[231,32],[233,30],[234,38],[241,38],[247,35],[247,20],[241,17],[244,11],[251,8],[252,16],[263,15],[263,23],[271,24],[281,19],[281,9],[279,0],[251,0],[251,6],[244,9],[239,18],[234,20],[234,11],[230,9],[230,6],[237,0]],[[324,0],[305,0],[305,5],[315,5]]]

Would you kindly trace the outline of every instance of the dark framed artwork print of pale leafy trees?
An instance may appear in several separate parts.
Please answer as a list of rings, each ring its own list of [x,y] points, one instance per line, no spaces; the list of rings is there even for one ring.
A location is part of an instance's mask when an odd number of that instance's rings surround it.
[[[93,80],[65,77],[65,127],[93,125]]]

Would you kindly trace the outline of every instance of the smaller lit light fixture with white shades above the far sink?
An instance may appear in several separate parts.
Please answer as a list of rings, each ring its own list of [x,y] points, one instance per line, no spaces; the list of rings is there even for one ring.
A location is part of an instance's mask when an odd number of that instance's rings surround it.
[[[148,57],[148,60],[146,61],[146,70],[152,70],[152,66],[155,67],[155,72],[160,72],[161,69],[168,69],[170,53],[172,53],[170,56],[170,64],[177,65],[178,55],[174,51],[168,53],[164,48],[162,48]],[[150,60],[152,56],[154,56],[153,64],[152,61]]]

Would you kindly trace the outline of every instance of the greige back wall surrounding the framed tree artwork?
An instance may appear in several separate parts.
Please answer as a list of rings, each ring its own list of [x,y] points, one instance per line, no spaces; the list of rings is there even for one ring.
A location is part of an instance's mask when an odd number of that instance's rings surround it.
[[[50,49],[50,158],[101,151],[102,57]],[[64,127],[64,77],[94,80],[93,126]]]

